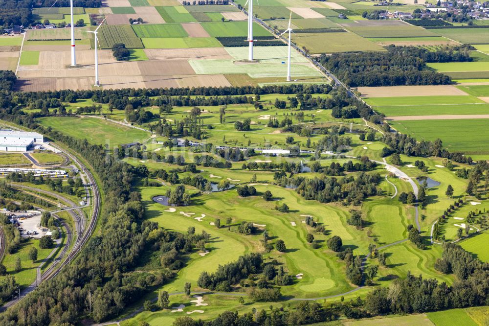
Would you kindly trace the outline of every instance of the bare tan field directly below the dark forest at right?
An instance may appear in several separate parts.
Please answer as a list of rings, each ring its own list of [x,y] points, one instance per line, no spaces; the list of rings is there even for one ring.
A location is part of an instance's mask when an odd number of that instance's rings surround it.
[[[362,97],[468,95],[452,85],[358,87]]]

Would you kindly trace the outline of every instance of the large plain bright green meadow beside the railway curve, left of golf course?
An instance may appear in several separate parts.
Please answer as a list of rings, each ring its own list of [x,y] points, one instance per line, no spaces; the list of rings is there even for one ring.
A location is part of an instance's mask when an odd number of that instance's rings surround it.
[[[111,147],[128,144],[149,138],[142,130],[129,128],[99,118],[79,117],[45,117],[39,122],[44,126],[78,139],[86,139],[93,144],[106,144]],[[76,128],[73,128],[76,126]]]

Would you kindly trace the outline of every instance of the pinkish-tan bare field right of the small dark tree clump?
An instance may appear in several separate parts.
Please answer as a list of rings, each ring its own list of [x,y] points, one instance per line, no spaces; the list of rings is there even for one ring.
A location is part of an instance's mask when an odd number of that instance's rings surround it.
[[[232,59],[223,47],[144,49],[150,60]]]

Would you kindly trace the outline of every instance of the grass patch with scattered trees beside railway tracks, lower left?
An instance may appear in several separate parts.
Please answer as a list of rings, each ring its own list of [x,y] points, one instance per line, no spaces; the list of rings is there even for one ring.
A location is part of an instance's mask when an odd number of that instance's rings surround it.
[[[23,242],[15,254],[5,253],[3,257],[2,264],[7,268],[7,273],[13,275],[21,287],[26,287],[36,280],[37,266],[52,251],[52,249],[39,248],[39,241],[38,239],[30,239],[29,241]],[[29,259],[29,249],[31,247],[37,249],[37,260],[35,262]],[[17,257],[21,258],[22,269],[16,273],[14,267]]]

